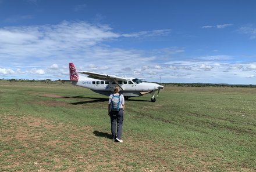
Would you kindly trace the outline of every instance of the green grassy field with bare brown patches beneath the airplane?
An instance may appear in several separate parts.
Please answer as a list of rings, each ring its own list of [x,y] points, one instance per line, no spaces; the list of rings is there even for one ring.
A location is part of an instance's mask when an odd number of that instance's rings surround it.
[[[0,171],[256,171],[256,89],[165,87],[126,101],[68,83],[0,82]]]

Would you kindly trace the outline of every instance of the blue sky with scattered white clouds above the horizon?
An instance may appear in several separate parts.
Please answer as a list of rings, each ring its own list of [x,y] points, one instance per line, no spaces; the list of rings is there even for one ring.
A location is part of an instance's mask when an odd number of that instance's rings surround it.
[[[256,1],[0,0],[0,78],[256,84]]]

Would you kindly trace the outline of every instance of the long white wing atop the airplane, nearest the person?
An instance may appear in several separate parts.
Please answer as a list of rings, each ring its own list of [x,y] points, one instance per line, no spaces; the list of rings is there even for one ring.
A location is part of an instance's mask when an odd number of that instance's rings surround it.
[[[98,73],[87,72],[87,71],[78,72],[78,73],[88,75],[88,78],[108,80],[108,81],[114,81],[114,82],[116,82],[116,80],[129,80],[129,78],[123,78],[115,75],[98,74]]]

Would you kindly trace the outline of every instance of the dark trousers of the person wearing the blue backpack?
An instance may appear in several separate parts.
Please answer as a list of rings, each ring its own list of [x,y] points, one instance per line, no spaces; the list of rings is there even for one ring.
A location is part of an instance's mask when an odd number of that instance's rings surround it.
[[[111,134],[112,138],[122,139],[122,128],[123,128],[123,110],[120,111],[111,111],[110,112],[111,118]],[[116,131],[116,123],[118,124],[117,131]]]

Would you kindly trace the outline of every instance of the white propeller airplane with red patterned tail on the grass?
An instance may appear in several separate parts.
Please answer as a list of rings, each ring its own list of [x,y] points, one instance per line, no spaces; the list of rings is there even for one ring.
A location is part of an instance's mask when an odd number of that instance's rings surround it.
[[[81,76],[79,74],[85,74]],[[151,82],[143,82],[138,78],[124,78],[115,75],[98,74],[94,72],[81,71],[77,72],[74,63],[69,63],[69,76],[73,85],[85,87],[95,93],[109,96],[113,93],[113,88],[118,85],[120,87],[120,94],[123,94],[125,100],[129,97],[138,97],[150,93],[152,95],[151,102],[155,102],[155,92],[158,90],[157,96],[162,85]]]

